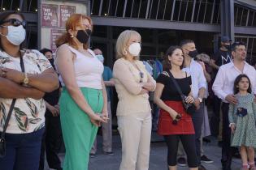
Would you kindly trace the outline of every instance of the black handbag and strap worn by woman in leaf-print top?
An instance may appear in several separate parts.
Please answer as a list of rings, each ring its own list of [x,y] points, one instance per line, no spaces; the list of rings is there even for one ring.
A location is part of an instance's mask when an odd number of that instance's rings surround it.
[[[24,62],[23,62],[23,58],[22,57],[20,57],[20,67],[21,67],[22,72],[24,72]],[[11,101],[10,110],[8,112],[7,119],[5,121],[3,130],[2,130],[2,133],[1,133],[1,138],[0,138],[0,158],[5,157],[6,152],[7,152],[7,143],[6,143],[5,134],[6,134],[6,131],[7,131],[7,126],[9,124],[10,119],[11,119],[11,113],[12,113],[13,108],[15,106],[15,102],[16,102],[16,99],[13,99]]]

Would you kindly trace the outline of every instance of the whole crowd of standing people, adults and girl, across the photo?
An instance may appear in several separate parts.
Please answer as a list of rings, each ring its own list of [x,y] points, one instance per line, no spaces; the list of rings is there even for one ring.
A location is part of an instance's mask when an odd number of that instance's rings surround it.
[[[234,147],[241,153],[241,169],[256,169],[256,70],[245,62],[244,43],[223,36],[219,51],[210,58],[197,53],[193,40],[181,40],[167,49],[163,72],[154,79],[140,61],[141,35],[136,31],[125,30],[116,40],[112,73],[103,66],[101,49],[89,49],[93,23],[88,16],[67,19],[54,58],[50,49],[21,48],[25,26],[20,13],[0,15],[1,169],[44,169],[46,152],[52,169],[86,170],[97,152],[99,126],[103,152],[114,155],[110,87],[119,99],[120,170],[149,169],[152,91],[168,169],[187,162],[192,170],[204,170],[202,161],[213,162],[202,147],[210,126],[213,135],[222,134],[223,170],[231,170]],[[208,96],[214,113],[210,125]],[[63,168],[58,156],[62,140]]]

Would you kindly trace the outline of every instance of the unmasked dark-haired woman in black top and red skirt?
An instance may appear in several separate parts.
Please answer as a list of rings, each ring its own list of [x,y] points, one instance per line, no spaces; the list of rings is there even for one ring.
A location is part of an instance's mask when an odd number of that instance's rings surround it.
[[[159,74],[154,102],[158,104],[160,116],[158,119],[158,134],[163,135],[167,143],[167,164],[170,170],[176,170],[177,149],[179,141],[182,142],[184,151],[188,156],[190,169],[197,169],[197,154],[195,149],[195,132],[191,116],[185,112],[181,96],[172,82],[176,80],[180,90],[186,96],[187,103],[194,102],[191,93],[191,76],[182,69],[184,55],[179,46],[167,49],[163,61],[163,73]]]

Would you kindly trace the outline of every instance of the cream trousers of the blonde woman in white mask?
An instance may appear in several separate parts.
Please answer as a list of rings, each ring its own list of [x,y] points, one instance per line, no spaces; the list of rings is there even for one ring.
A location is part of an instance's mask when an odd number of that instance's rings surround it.
[[[122,142],[120,170],[148,170],[150,162],[151,113],[117,117]]]

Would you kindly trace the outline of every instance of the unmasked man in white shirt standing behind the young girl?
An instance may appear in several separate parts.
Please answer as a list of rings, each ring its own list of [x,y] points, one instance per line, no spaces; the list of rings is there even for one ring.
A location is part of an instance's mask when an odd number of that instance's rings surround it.
[[[222,165],[223,170],[231,170],[232,163],[232,147],[230,147],[230,134],[228,121],[229,103],[236,104],[237,100],[233,94],[233,86],[236,77],[239,74],[247,74],[252,83],[252,90],[256,92],[256,70],[253,66],[249,66],[245,62],[246,48],[242,42],[235,42],[232,44],[232,62],[219,67],[212,90],[215,95],[222,101],[223,112],[223,146],[222,146]]]

